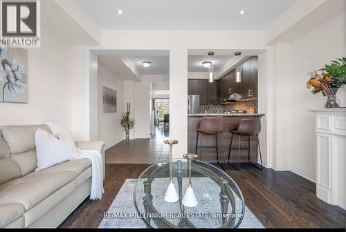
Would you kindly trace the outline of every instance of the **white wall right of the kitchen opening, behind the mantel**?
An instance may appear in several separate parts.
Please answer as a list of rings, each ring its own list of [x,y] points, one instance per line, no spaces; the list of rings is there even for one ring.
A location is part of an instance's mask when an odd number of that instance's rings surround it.
[[[308,72],[345,57],[345,24],[342,12],[289,43],[268,46],[259,56],[259,111],[266,113],[260,134],[262,147],[266,146],[265,166],[316,180],[315,118],[308,109],[323,108],[326,98],[312,95],[306,82]],[[337,97],[345,98],[345,93],[339,90]]]

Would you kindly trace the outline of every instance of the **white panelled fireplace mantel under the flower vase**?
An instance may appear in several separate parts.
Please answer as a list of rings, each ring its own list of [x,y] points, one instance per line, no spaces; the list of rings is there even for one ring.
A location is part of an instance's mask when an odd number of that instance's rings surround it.
[[[316,195],[346,209],[346,108],[309,111],[316,115]]]

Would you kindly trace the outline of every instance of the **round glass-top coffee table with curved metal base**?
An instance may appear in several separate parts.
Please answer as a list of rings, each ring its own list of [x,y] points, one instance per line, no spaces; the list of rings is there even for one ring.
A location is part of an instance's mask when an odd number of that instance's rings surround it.
[[[172,177],[179,200],[164,200],[170,183],[169,162],[149,166],[134,187],[134,205],[147,228],[237,228],[244,216],[244,198],[237,184],[219,168],[192,160],[191,183],[198,204],[187,207],[182,199],[188,188],[186,160],[172,162]]]

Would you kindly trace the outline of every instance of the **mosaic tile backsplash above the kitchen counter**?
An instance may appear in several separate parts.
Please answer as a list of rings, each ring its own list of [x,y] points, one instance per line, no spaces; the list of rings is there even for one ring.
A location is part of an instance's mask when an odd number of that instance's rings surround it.
[[[257,99],[251,101],[237,101],[229,105],[201,105],[199,106],[200,113],[224,113],[233,110],[255,110],[258,112]]]

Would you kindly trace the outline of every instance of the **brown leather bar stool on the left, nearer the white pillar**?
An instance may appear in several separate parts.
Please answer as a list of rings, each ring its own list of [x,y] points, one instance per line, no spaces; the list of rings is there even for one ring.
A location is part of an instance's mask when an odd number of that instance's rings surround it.
[[[224,128],[224,119],[222,116],[220,117],[202,117],[201,118],[201,124],[199,125],[199,129],[197,129],[197,141],[196,141],[196,154],[197,154],[197,148],[198,148],[198,140],[199,140],[199,133],[206,134],[206,135],[215,135],[216,137],[216,150],[217,150],[217,164],[219,164],[219,148],[218,148],[218,142],[217,142],[217,135],[221,133],[221,139],[222,139],[222,154],[224,155],[224,166],[221,166],[221,168],[226,169],[226,160],[225,160],[225,148],[224,148],[224,135],[222,133],[222,129]],[[203,146],[201,146],[203,148]],[[199,156],[199,160],[201,160],[201,155]]]

